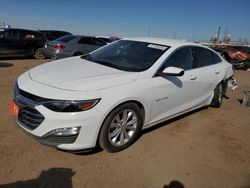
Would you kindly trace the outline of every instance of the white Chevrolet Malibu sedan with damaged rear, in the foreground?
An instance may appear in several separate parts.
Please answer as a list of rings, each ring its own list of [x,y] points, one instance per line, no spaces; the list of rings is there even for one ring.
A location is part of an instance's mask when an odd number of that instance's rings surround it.
[[[232,77],[232,66],[207,47],[122,39],[25,72],[16,82],[11,111],[43,144],[117,152],[142,129],[203,106],[220,107]]]

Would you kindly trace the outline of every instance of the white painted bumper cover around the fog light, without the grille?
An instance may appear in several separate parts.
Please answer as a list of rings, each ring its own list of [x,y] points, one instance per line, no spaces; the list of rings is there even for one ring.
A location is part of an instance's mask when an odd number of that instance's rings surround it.
[[[95,147],[98,132],[101,125],[99,113],[55,113],[45,109],[43,106],[37,107],[38,111],[45,117],[44,121],[34,130],[30,130],[19,119],[16,123],[25,132],[30,134],[42,144],[56,147],[62,150],[82,150]],[[55,129],[81,127],[79,134],[72,136],[46,136]]]

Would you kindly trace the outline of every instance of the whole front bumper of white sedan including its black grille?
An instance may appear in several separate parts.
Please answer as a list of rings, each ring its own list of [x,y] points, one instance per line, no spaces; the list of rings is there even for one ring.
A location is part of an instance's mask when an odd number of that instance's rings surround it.
[[[103,121],[103,113],[96,108],[83,112],[54,112],[37,103],[36,100],[23,96],[16,89],[15,102],[20,108],[16,123],[42,144],[70,151],[95,147]],[[75,127],[79,128],[77,134],[49,134],[55,130]]]

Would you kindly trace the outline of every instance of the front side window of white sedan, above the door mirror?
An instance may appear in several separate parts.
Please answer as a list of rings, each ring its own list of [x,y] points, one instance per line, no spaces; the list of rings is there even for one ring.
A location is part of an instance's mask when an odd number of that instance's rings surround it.
[[[178,67],[184,70],[192,69],[192,50],[189,47],[184,47],[175,51],[161,67],[163,71],[166,67]]]

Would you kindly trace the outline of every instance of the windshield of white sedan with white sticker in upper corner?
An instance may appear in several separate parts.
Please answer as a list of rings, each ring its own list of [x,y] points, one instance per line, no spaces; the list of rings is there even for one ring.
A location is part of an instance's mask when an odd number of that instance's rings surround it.
[[[140,72],[150,68],[168,46],[120,40],[82,58],[119,70]]]

